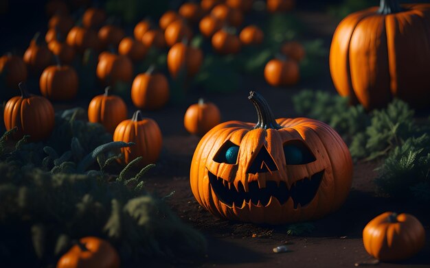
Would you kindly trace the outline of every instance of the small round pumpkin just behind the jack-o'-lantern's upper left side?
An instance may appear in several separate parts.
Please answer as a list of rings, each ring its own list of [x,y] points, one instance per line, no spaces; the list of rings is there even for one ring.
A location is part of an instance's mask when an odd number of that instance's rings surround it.
[[[183,117],[185,130],[194,135],[203,136],[212,127],[218,125],[221,120],[220,110],[212,102],[204,102],[199,99],[199,103],[194,103],[188,107]]]

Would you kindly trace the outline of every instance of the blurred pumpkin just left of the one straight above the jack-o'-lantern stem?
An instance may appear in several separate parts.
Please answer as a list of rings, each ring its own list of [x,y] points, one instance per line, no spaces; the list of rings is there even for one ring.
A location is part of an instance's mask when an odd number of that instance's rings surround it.
[[[220,54],[236,54],[240,52],[242,45],[238,36],[229,29],[220,29],[212,36],[212,47]]]

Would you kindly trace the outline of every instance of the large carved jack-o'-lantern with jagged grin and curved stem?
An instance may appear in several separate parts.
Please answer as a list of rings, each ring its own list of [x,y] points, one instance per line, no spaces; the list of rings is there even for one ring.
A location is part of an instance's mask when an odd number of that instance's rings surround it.
[[[190,184],[213,215],[255,223],[318,219],[346,199],[352,181],[348,147],[313,119],[276,119],[258,93],[258,123],[229,121],[207,132],[194,151]]]

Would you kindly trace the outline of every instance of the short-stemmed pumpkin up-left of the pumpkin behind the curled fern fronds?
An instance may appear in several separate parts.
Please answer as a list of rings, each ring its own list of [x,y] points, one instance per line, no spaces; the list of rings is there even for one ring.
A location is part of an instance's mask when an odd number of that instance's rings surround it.
[[[101,123],[113,134],[119,123],[127,119],[127,106],[121,97],[109,95],[109,86],[103,95],[91,99],[88,106],[88,121]]]

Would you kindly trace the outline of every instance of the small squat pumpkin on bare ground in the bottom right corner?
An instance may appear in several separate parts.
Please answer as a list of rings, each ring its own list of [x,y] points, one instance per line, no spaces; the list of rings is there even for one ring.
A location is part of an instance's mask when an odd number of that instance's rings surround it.
[[[425,245],[425,230],[416,217],[384,212],[367,223],[363,230],[364,247],[383,261],[405,260]]]

